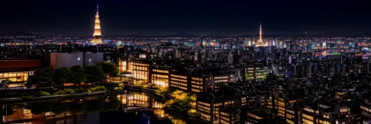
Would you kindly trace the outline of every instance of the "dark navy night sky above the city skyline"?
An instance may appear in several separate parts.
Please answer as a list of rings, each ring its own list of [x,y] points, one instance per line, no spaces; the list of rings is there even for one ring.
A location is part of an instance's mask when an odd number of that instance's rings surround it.
[[[92,31],[96,3],[111,34],[257,34],[363,32],[371,28],[370,2],[360,1],[2,1],[0,29],[33,32]]]

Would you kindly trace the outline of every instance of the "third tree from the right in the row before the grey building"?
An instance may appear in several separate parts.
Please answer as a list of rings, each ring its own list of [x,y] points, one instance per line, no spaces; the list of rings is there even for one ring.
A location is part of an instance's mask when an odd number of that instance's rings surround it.
[[[86,81],[86,75],[80,65],[72,66],[70,69],[72,73],[70,81],[72,83],[79,84]]]

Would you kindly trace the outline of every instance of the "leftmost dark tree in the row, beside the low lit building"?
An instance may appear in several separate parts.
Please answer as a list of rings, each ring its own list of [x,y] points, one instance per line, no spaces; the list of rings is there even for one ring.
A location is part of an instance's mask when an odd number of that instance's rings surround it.
[[[49,67],[37,69],[34,75],[28,77],[27,85],[36,85],[38,87],[51,85],[53,81],[52,73],[53,70]]]

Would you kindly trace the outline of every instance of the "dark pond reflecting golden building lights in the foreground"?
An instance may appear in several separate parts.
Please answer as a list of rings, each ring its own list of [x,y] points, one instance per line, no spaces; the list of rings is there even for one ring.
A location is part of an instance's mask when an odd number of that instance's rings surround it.
[[[164,110],[164,101],[145,93],[129,92],[73,99],[3,105],[4,123],[190,123],[176,111]]]

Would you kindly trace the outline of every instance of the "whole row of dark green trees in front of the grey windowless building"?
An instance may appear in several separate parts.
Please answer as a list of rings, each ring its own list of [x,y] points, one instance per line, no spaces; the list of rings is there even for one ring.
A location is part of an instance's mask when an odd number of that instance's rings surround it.
[[[97,65],[87,66],[82,68],[79,65],[71,68],[61,67],[55,68],[41,68],[35,71],[34,75],[29,76],[28,86],[47,86],[55,83],[56,85],[63,85],[63,83],[100,83],[107,79],[107,77],[117,77],[119,75],[118,68],[109,62],[100,62]]]

